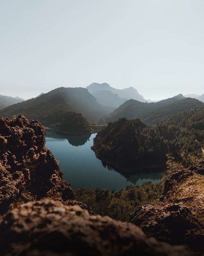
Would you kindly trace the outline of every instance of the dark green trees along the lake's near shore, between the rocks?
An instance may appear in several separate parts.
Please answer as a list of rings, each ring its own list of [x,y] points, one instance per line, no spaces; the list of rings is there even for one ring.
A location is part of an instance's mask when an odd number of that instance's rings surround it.
[[[79,188],[75,191],[76,200],[85,203],[88,209],[100,215],[108,215],[116,220],[127,221],[130,214],[144,204],[153,203],[163,192],[163,182],[142,186],[127,186],[126,189],[110,191]]]

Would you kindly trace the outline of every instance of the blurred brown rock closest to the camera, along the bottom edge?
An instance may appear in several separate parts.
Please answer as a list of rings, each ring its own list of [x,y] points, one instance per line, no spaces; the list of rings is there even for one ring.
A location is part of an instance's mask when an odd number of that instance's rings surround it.
[[[44,199],[22,204],[0,220],[2,256],[191,256],[185,246],[148,238],[140,228],[89,215],[80,206]]]

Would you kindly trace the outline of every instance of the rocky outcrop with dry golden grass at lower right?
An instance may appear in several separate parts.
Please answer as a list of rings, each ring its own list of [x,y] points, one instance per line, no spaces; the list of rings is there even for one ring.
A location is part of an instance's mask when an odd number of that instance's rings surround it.
[[[130,222],[148,236],[171,244],[187,244],[202,252],[204,241],[204,162],[175,170],[165,181],[160,202],[137,209]]]

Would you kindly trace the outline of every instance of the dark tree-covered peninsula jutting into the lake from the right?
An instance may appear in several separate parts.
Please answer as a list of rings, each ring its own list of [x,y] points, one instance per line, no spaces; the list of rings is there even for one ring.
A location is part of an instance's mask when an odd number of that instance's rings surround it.
[[[204,133],[198,128],[202,127],[204,116],[201,117],[197,123],[189,121],[191,129],[169,125],[167,120],[149,126],[139,119],[120,118],[97,134],[92,150],[97,158],[124,173],[165,166],[167,153],[173,154],[176,161],[185,162],[186,154],[201,152]]]

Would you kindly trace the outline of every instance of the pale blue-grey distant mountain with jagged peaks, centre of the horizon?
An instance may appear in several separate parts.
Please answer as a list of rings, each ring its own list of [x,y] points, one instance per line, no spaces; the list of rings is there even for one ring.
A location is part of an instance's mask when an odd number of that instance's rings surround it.
[[[86,87],[88,91],[96,98],[96,100],[104,106],[118,107],[126,100],[134,99],[140,102],[146,102],[142,95],[133,88],[115,89],[107,83],[92,83]],[[104,93],[106,91],[106,93]]]

